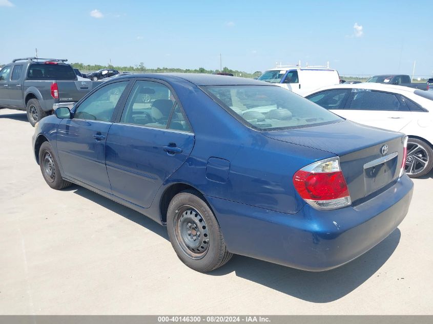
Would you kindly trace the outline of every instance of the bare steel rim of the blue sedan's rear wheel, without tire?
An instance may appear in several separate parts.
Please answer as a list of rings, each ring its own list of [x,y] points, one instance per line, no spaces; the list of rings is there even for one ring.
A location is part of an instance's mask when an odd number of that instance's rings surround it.
[[[191,206],[179,208],[173,219],[176,240],[183,252],[199,260],[208,251],[209,230],[200,213]]]

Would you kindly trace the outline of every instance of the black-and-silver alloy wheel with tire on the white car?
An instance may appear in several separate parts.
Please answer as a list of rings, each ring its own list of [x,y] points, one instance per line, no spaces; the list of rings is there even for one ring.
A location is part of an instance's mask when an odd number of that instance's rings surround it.
[[[406,174],[410,178],[419,178],[428,174],[432,167],[433,149],[431,149],[430,144],[417,138],[409,138],[407,141]]]

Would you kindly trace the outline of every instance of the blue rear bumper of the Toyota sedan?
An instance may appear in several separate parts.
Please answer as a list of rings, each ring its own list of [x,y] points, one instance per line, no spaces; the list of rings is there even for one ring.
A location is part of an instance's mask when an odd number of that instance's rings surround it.
[[[286,214],[206,197],[230,252],[308,271],[341,266],[373,248],[401,223],[413,194],[403,175],[357,206],[321,211],[305,205]]]

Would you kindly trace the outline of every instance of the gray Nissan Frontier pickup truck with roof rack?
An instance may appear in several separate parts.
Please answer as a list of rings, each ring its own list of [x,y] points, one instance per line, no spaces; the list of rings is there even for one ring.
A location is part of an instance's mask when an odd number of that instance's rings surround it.
[[[100,82],[79,80],[66,59],[17,58],[0,70],[0,109],[27,112],[34,126],[59,106],[72,107]]]

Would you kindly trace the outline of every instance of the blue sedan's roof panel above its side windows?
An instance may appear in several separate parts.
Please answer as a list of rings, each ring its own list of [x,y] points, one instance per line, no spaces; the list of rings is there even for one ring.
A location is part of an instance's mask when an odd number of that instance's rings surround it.
[[[200,85],[271,85],[270,83],[235,76],[200,74],[200,73],[145,73],[127,74],[117,78],[154,78],[163,81],[178,81],[183,79],[197,86]]]

